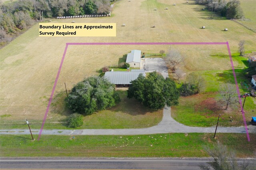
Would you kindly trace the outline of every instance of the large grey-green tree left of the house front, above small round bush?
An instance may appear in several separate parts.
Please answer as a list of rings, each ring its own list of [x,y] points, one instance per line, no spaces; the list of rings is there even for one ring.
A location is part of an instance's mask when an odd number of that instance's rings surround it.
[[[72,111],[88,115],[115,106],[119,97],[114,84],[101,77],[89,77],[73,87],[67,101]]]

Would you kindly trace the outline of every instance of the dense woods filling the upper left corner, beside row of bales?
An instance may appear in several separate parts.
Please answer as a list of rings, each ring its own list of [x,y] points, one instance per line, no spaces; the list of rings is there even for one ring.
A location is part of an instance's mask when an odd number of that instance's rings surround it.
[[[57,16],[108,14],[114,0],[21,0],[0,6],[0,46],[35,21]]]

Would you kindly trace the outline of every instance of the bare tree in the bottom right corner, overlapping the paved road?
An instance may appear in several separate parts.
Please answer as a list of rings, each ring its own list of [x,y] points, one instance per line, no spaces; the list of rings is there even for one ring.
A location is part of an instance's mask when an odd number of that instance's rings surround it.
[[[204,147],[206,152],[214,159],[212,162],[208,162],[214,170],[255,170],[255,159],[250,161],[244,161],[238,164],[236,153],[228,150],[226,146],[218,142],[214,145],[213,149]],[[200,166],[201,170],[210,170],[210,166]]]

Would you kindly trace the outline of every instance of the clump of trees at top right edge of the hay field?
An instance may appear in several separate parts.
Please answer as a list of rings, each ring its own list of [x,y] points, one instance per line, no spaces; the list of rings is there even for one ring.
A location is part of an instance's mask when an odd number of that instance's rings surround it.
[[[196,3],[205,4],[209,10],[220,12],[221,16],[229,19],[239,19],[244,16],[239,0],[196,0]]]

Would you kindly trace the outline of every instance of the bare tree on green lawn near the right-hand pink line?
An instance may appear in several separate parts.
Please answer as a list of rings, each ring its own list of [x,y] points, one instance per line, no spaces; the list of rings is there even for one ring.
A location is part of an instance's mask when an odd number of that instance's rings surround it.
[[[228,109],[228,106],[235,104],[238,102],[238,96],[236,93],[236,89],[232,84],[226,84],[223,86],[220,91],[220,103],[225,106],[225,109]]]

